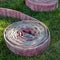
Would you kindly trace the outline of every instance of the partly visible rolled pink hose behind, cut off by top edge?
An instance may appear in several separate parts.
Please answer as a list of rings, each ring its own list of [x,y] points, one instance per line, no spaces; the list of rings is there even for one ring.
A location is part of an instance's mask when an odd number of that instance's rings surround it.
[[[58,0],[25,0],[32,11],[52,11],[58,8]]]

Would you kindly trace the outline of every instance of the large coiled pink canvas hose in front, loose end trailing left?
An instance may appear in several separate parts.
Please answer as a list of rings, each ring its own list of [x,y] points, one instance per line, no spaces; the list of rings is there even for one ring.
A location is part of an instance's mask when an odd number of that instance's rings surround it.
[[[8,26],[4,31],[7,47],[15,54],[36,56],[50,44],[50,32],[45,24],[16,10],[0,8],[0,16],[21,21]]]

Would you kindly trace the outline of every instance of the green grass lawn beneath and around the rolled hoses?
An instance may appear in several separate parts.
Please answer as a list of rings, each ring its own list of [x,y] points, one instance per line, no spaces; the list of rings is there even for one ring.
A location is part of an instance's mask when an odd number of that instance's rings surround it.
[[[24,0],[0,2],[0,7],[15,9],[30,15],[45,23],[51,32],[51,45],[46,52],[36,57],[18,56],[7,48],[3,37],[4,29],[18,20],[0,17],[0,60],[60,60],[60,4],[59,8],[52,12],[33,12],[25,5]]]

